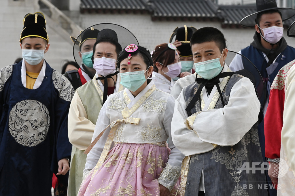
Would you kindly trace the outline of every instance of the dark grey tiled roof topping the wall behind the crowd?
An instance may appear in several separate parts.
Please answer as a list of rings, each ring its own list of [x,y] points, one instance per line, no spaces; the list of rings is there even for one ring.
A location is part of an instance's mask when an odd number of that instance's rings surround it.
[[[211,0],[81,0],[81,13],[149,13],[152,20],[220,21],[222,28],[244,28],[241,19],[256,12],[256,4],[220,5]],[[295,17],[285,21],[289,27]]]

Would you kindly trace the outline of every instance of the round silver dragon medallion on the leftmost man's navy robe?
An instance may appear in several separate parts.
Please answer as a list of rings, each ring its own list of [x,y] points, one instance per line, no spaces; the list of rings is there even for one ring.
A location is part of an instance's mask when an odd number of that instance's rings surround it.
[[[36,100],[22,100],[9,113],[9,132],[23,146],[37,146],[46,139],[49,129],[49,112]]]

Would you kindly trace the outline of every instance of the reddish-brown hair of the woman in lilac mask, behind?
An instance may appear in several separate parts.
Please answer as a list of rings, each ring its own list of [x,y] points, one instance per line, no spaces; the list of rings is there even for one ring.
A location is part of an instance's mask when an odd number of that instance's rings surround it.
[[[158,72],[158,68],[156,66],[156,63],[162,63],[164,67],[167,67],[167,65],[173,63],[175,59],[175,50],[168,49],[168,44],[160,44],[157,45],[153,54],[152,54],[152,59],[153,59],[153,65],[154,65],[154,71]],[[163,52],[166,50],[165,52]],[[159,56],[160,55],[160,56]]]

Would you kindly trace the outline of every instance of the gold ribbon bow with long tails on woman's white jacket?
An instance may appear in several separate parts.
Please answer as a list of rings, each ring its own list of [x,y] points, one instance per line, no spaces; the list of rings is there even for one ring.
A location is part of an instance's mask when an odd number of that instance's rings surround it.
[[[96,171],[101,167],[101,165],[104,163],[105,159],[106,159],[106,156],[108,155],[109,153],[109,150],[112,146],[112,143],[113,143],[113,140],[114,140],[114,137],[115,137],[115,133],[116,133],[116,130],[117,130],[117,126],[120,125],[121,123],[129,123],[129,124],[133,124],[133,125],[138,125],[139,122],[140,122],[140,118],[132,118],[132,117],[129,117],[129,118],[126,118],[126,119],[118,119],[118,120],[115,120],[114,122],[112,122],[111,124],[109,124],[95,139],[93,142],[91,142],[90,146],[88,146],[88,148],[85,150],[85,154],[88,154],[89,151],[93,148],[93,146],[96,144],[96,142],[99,140],[99,138],[104,134],[104,131],[108,128],[108,127],[111,127],[111,131],[108,135],[108,138],[106,139],[106,143],[104,145],[104,149],[100,155],[100,158],[96,164],[96,166],[94,167],[94,171],[93,171],[93,174],[92,174],[92,177],[91,179],[94,177],[94,174],[96,173]]]

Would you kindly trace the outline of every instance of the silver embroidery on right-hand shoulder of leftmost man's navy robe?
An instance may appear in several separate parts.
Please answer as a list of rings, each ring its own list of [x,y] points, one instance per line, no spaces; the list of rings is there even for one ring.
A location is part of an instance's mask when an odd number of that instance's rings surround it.
[[[63,75],[58,73],[56,70],[52,72],[52,81],[54,87],[59,92],[59,97],[65,101],[71,102],[75,93],[71,82]]]

